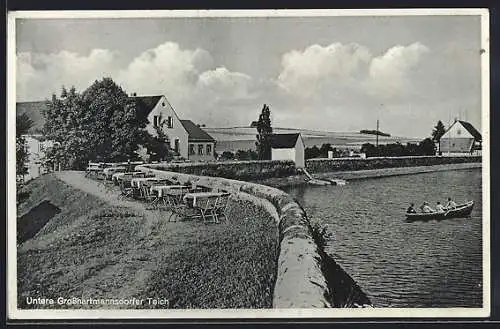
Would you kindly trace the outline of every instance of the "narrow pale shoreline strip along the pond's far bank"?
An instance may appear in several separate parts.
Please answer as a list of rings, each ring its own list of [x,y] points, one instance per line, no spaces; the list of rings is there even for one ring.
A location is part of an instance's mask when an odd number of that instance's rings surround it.
[[[382,178],[390,176],[414,175],[437,171],[448,170],[467,170],[482,168],[481,162],[474,163],[455,163],[455,164],[442,164],[432,166],[417,166],[417,167],[394,167],[394,168],[380,168],[380,169],[367,169],[367,170],[349,170],[349,171],[332,171],[324,173],[314,173],[311,175],[318,179],[344,179],[359,180],[370,178]],[[289,188],[297,186],[308,186],[304,175],[294,175],[281,178],[268,178],[265,180],[254,181],[254,183],[267,185],[275,188]],[[310,185],[313,186],[313,185]]]

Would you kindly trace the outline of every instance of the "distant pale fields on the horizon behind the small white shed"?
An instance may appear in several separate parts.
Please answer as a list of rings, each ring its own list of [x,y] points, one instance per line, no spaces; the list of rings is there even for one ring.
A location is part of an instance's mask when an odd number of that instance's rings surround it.
[[[204,128],[217,141],[217,151],[232,151],[255,149],[255,139],[257,129],[250,127],[232,128]],[[336,148],[358,150],[364,143],[375,144],[374,135],[360,134],[359,132],[325,132],[307,129],[274,128],[275,133],[295,133],[300,132],[304,138],[306,147],[314,145],[320,147],[322,144],[330,143]],[[400,142],[419,142],[418,138],[407,137],[383,137],[379,136],[379,144]]]

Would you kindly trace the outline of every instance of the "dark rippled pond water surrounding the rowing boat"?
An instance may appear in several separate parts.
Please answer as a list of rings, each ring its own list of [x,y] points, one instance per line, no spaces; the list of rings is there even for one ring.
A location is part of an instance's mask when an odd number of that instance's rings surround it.
[[[327,252],[375,307],[482,307],[481,169],[286,191],[328,224]],[[407,222],[410,202],[474,200],[470,218]]]

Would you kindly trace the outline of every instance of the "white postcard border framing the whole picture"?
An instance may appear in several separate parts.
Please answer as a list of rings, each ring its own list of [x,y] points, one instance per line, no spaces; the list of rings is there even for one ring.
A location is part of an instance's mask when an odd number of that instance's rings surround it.
[[[45,18],[160,18],[160,17],[299,17],[299,16],[481,16],[482,136],[483,136],[483,307],[482,308],[367,308],[367,309],[259,309],[259,310],[18,310],[15,201],[16,49],[15,20]],[[377,10],[158,10],[158,11],[23,11],[8,14],[7,192],[9,319],[255,319],[255,318],[448,318],[490,315],[490,154],[489,154],[489,12],[487,9],[377,9]],[[486,147],[485,147],[486,146]]]

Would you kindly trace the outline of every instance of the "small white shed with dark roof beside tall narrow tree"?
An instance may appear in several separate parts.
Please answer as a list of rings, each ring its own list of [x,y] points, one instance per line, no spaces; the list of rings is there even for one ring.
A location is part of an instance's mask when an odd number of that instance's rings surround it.
[[[297,168],[304,168],[304,149],[304,140],[300,133],[273,134],[271,136],[272,160],[292,160]]]

